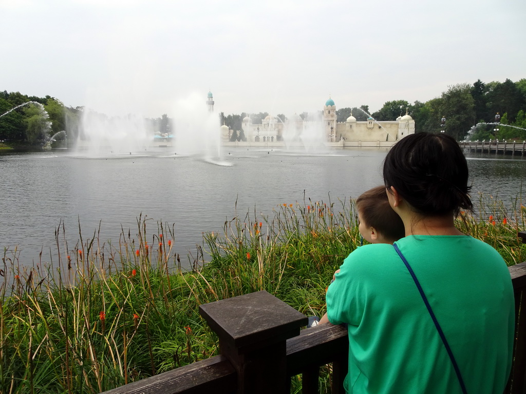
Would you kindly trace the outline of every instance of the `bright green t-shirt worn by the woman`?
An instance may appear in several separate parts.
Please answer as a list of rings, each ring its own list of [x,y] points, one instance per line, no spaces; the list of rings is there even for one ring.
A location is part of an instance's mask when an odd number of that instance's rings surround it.
[[[468,393],[501,394],[510,374],[514,298],[502,257],[473,237],[397,241],[426,294]],[[413,279],[388,244],[358,247],[327,291],[332,324],[348,324],[346,390],[461,393]]]

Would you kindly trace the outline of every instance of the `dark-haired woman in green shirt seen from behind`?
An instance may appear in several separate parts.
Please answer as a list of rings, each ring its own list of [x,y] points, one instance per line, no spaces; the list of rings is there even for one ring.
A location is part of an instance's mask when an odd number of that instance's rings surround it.
[[[361,246],[346,258],[321,323],[348,325],[347,392],[501,394],[513,289],[499,253],[454,226],[472,208],[458,143],[444,134],[404,137],[387,154],[383,178],[406,228],[395,246],[424,295],[393,245]]]

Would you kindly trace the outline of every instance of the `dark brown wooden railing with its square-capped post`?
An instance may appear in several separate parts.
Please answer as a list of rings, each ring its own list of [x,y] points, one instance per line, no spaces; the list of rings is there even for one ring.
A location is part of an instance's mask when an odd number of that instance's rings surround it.
[[[526,232],[519,233],[526,243]],[[515,293],[513,365],[505,393],[526,393],[526,262],[509,267]],[[332,392],[343,394],[349,343],[342,326],[301,330],[308,318],[262,291],[201,305],[219,337],[220,356],[106,391],[106,394],[285,394],[302,374],[302,392],[318,393],[319,368],[332,363]]]

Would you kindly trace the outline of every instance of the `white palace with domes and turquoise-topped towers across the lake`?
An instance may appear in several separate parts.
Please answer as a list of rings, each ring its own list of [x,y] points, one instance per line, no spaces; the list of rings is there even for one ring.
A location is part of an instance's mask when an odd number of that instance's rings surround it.
[[[213,111],[214,101],[208,92],[207,105]],[[329,98],[323,106],[321,119],[304,120],[298,115],[282,121],[268,115],[260,124],[250,117],[242,120],[241,127],[247,141],[230,142],[231,130],[221,126],[221,142],[225,146],[289,147],[325,145],[327,147],[390,147],[399,139],[414,134],[414,120],[404,115],[392,121],[376,121],[369,117],[358,122],[349,116],[345,122],[336,121],[336,105]]]

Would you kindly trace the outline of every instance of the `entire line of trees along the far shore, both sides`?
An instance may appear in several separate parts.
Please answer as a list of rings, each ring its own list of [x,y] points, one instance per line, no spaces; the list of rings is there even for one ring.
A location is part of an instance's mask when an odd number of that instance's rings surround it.
[[[34,103],[28,103],[33,101]],[[24,103],[28,103],[22,107]],[[15,110],[13,110],[16,108]],[[45,111],[43,110],[45,109]],[[11,111],[6,115],[5,112]],[[52,137],[55,140],[68,141],[83,138],[82,116],[84,107],[66,107],[58,99],[23,95],[20,92],[0,91],[0,142],[24,141],[29,144],[42,144]],[[444,130],[458,141],[464,139],[489,140],[526,140],[526,78],[517,82],[506,79],[504,82],[484,83],[480,79],[474,84],[450,86],[440,97],[427,102],[406,100],[387,101],[380,110],[370,113],[368,105],[359,108],[337,109],[337,120],[345,122],[351,115],[357,121],[366,121],[372,116],[378,121],[396,120],[406,112],[414,119],[416,131],[438,132]],[[498,127],[488,124],[495,122],[499,114]],[[249,116],[252,123],[260,124],[269,115],[268,112],[219,114],[221,125],[229,126],[231,141],[246,140],[242,130],[242,120]],[[287,121],[287,117],[278,113],[273,115],[277,122]],[[302,112],[302,119],[316,119],[321,111],[314,114]],[[108,118],[97,114],[99,118]],[[445,123],[442,123],[445,118]],[[108,118],[110,119],[110,118]],[[171,120],[166,114],[155,119],[146,119],[146,127],[153,133],[168,135],[171,133]],[[62,132],[65,131],[65,132]]]

